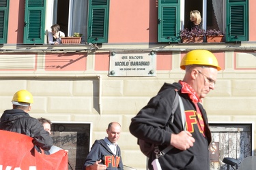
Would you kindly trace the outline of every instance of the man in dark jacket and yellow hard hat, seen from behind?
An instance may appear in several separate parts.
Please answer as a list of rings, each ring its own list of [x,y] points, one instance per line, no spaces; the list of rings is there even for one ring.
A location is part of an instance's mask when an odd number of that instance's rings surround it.
[[[13,109],[5,110],[1,116],[0,129],[33,137],[34,145],[43,150],[50,150],[53,139],[36,118],[29,116],[31,103],[33,103],[33,96],[29,91],[16,92],[12,99]]]

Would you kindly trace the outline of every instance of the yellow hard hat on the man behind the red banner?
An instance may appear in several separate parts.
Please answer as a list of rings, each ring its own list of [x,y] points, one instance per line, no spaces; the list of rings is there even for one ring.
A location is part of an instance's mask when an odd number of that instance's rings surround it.
[[[20,103],[21,102],[21,103]],[[14,105],[23,105],[23,103],[33,103],[33,96],[27,90],[19,90],[12,98]]]

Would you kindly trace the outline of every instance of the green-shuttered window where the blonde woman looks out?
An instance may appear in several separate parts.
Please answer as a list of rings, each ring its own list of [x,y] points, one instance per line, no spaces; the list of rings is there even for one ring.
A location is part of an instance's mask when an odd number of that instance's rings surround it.
[[[201,12],[203,29],[220,29],[226,41],[248,41],[248,0],[158,0],[158,42],[180,41],[192,10]]]

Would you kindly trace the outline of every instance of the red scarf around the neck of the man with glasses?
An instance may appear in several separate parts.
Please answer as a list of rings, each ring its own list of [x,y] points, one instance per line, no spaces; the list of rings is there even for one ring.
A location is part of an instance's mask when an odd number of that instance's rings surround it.
[[[198,120],[198,126],[199,126],[199,129],[201,129],[202,133],[203,133],[203,136],[205,137],[205,134],[204,134],[204,130],[205,130],[205,124],[203,122],[203,117],[202,117],[202,114],[200,112],[200,109],[197,105],[198,102],[201,102],[201,99],[198,97],[197,93],[195,92],[195,90],[189,85],[187,84],[186,82],[182,82],[181,80],[179,81],[180,84],[182,84],[182,93],[186,93],[188,94],[189,98],[191,99],[191,101],[193,101],[196,109],[197,109],[197,120]]]

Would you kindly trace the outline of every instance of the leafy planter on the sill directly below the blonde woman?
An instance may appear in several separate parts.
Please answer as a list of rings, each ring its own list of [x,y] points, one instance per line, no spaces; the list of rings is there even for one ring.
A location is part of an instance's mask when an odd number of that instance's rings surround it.
[[[183,29],[180,31],[180,38],[182,43],[201,43],[205,36],[205,30],[203,29]]]

